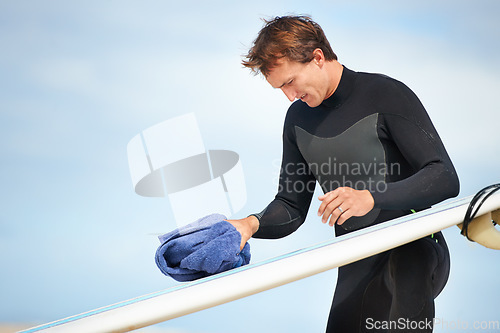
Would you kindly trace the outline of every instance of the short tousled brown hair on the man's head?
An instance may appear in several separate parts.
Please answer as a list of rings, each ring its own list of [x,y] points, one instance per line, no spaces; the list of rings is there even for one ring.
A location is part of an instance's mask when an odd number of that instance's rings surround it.
[[[242,61],[243,66],[255,74],[260,72],[267,76],[276,61],[283,57],[301,63],[310,62],[317,48],[323,51],[326,60],[337,60],[323,29],[310,17],[281,16],[264,22]]]

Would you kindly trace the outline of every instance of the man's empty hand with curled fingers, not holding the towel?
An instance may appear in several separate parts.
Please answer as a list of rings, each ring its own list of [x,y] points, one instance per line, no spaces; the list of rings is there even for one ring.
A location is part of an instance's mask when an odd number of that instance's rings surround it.
[[[374,205],[373,196],[368,190],[360,191],[350,187],[339,187],[318,199],[322,201],[318,216],[323,215],[321,218],[323,223],[330,219],[329,224],[332,227],[335,222],[341,225],[352,216],[366,215]]]

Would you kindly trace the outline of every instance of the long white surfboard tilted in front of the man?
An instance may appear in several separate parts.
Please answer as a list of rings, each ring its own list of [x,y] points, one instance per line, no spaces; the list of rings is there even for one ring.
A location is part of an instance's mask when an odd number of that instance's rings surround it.
[[[286,255],[22,332],[128,332],[181,317],[322,273],[457,225],[463,221],[472,198],[453,200]],[[500,192],[484,202],[477,216],[497,209],[500,209]]]

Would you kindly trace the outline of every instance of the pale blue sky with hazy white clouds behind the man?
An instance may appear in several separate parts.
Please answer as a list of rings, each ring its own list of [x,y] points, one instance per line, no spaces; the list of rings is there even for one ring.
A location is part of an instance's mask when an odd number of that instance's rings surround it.
[[[206,147],[240,154],[248,202],[235,217],[267,205],[289,102],[240,61],[260,18],[287,13],[311,15],[347,67],[416,92],[460,196],[499,182],[496,1],[2,1],[0,321],[47,322],[176,284],[154,263],[169,203],[136,195],[127,164],[129,140],[154,124],[194,112]],[[498,320],[499,253],[445,235],[452,272],[436,316]],[[283,240],[252,240],[252,260],[332,236],[311,214]],[[321,332],[335,274],[159,327]]]

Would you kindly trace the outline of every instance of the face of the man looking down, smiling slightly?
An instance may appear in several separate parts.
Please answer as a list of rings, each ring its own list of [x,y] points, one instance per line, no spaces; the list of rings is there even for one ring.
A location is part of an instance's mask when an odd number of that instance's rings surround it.
[[[281,89],[291,102],[301,99],[310,107],[316,107],[329,97],[324,64],[321,58],[305,64],[281,58],[266,80],[273,88]]]

